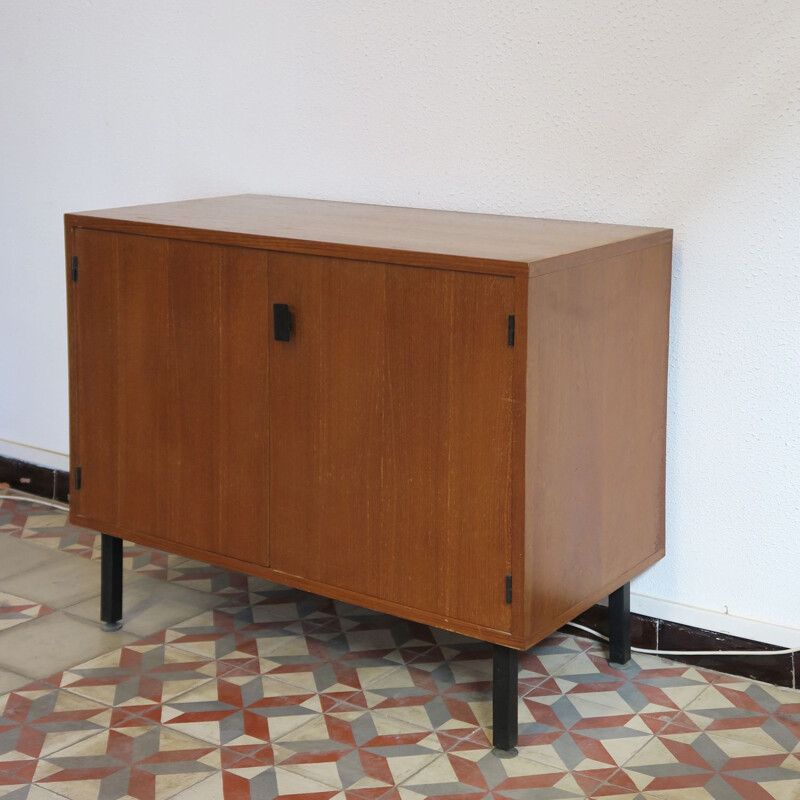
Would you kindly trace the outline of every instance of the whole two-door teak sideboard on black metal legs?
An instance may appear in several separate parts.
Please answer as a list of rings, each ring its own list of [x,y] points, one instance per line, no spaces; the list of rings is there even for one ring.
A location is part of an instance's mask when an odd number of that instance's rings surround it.
[[[672,231],[240,195],[67,214],[70,521],[516,651],[664,554]]]

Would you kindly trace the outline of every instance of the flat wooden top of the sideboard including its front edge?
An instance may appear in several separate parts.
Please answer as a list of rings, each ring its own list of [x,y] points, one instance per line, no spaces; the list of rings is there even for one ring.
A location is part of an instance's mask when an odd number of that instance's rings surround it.
[[[395,256],[425,253],[525,268],[597,248],[638,249],[672,237],[665,228],[253,194],[85,211],[68,215],[67,222],[149,235],[158,235],[152,226],[159,226],[165,228],[163,235],[181,238],[188,231],[202,231],[205,241],[217,238],[267,249],[325,254],[330,247],[331,255],[340,255],[337,251],[344,246],[375,251],[375,258],[380,251]]]

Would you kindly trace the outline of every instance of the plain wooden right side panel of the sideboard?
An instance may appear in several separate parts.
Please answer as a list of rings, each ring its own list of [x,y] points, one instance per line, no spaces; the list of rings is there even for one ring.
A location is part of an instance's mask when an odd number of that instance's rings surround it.
[[[671,246],[530,282],[528,643],[664,553]]]

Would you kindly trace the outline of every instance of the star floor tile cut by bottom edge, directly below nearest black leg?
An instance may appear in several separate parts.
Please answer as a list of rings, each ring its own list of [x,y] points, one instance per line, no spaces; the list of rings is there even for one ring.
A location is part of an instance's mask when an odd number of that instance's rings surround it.
[[[450,752],[402,784],[398,797],[550,800],[586,798],[600,782],[525,758],[498,758],[492,752]]]

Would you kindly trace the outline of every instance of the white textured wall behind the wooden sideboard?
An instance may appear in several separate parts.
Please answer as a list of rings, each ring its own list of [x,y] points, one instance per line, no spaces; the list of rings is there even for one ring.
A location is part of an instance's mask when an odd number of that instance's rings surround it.
[[[800,639],[798,32],[796,0],[0,0],[0,453],[67,451],[64,211],[671,226],[669,555],[634,589]]]

